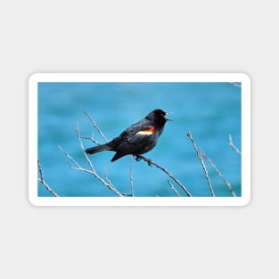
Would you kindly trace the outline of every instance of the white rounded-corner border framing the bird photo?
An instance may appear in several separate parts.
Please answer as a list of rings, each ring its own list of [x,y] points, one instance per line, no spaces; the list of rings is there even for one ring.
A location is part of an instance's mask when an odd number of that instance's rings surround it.
[[[242,197],[37,197],[38,82],[241,82]],[[250,201],[250,78],[243,73],[36,73],[29,78],[29,201],[36,206],[244,206]]]

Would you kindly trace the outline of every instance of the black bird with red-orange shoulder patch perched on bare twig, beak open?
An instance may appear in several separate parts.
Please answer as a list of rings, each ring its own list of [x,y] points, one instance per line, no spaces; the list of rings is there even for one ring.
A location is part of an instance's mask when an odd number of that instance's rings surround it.
[[[111,142],[88,148],[85,152],[87,154],[106,150],[116,152],[111,161],[118,160],[128,154],[137,156],[149,152],[157,144],[166,122],[170,120],[165,118],[166,114],[168,112],[162,110],[152,111],[144,119],[128,127]]]

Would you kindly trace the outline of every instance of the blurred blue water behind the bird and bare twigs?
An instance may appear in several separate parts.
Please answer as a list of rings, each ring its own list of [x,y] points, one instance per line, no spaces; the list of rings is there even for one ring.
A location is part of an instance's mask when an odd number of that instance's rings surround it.
[[[191,132],[198,148],[213,160],[232,185],[242,193],[241,156],[228,145],[228,135],[241,150],[241,88],[231,83],[39,83],[38,158],[44,178],[60,196],[116,196],[94,176],[70,169],[70,162],[58,145],[89,168],[81,151],[80,135],[104,143],[83,113],[85,110],[108,140],[119,135],[150,111],[170,111],[156,147],[145,157],[154,160],[182,182],[193,196],[210,196],[201,162],[187,137]],[[94,144],[83,139],[85,148]],[[104,171],[120,193],[131,193],[131,157],[111,162],[114,152],[89,155],[95,170]],[[72,164],[72,163],[71,163]],[[205,160],[216,196],[231,196],[227,186]],[[176,196],[168,185],[169,177],[144,161],[132,160],[135,196]],[[104,170],[105,169],[105,170]],[[173,182],[176,190],[185,195]],[[39,196],[52,196],[38,183]]]

